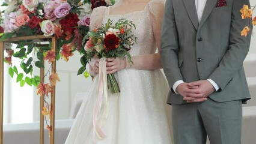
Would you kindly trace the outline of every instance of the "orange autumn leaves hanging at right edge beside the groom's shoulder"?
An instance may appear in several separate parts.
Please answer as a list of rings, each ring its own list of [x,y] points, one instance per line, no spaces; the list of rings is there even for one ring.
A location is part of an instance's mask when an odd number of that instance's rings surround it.
[[[243,5],[243,8],[241,8],[240,12],[242,19],[249,19],[249,24],[252,23],[253,26],[256,25],[256,16],[252,19],[252,12],[254,11],[254,8],[256,7],[256,5],[251,6],[251,8],[249,8],[248,5]],[[251,22],[252,19],[252,22]],[[241,31],[241,36],[246,37],[248,35],[248,32],[250,31],[249,26],[245,26],[245,28],[243,28],[243,30]]]

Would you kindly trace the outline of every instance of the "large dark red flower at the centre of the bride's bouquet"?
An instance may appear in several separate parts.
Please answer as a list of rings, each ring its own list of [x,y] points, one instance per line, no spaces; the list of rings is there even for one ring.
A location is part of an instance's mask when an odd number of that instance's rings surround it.
[[[106,35],[104,42],[105,42],[104,46],[106,50],[114,50],[118,47],[118,38],[114,34]]]

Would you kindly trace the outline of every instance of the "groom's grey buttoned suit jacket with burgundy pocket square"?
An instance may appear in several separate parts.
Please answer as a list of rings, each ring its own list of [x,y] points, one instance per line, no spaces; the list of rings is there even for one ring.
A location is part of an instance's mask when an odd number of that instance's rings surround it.
[[[212,100],[249,100],[243,60],[251,34],[240,35],[248,25],[240,9],[249,1],[226,1],[227,6],[216,7],[218,0],[208,0],[199,23],[194,0],[166,0],[160,56],[170,88],[167,103],[186,103],[172,90],[177,80],[208,78],[220,86],[209,96]]]

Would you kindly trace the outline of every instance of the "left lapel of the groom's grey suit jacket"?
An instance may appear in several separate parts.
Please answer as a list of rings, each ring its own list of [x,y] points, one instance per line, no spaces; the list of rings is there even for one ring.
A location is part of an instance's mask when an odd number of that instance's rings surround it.
[[[208,0],[208,1],[212,1],[212,0]],[[193,23],[195,29],[198,29],[199,22],[197,17],[197,9],[195,7],[195,0],[183,0],[183,4],[186,8],[187,14],[189,15],[189,18]]]

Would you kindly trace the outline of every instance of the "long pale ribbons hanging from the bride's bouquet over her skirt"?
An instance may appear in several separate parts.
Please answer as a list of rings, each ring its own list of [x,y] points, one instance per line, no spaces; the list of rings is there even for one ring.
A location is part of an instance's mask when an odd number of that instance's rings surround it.
[[[99,62],[99,82],[97,92],[97,103],[93,113],[93,141],[96,142],[96,135],[99,139],[106,138],[100,125],[108,117],[108,80],[106,74],[106,58],[101,58]]]

